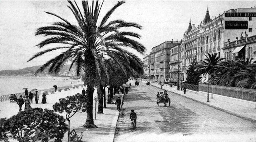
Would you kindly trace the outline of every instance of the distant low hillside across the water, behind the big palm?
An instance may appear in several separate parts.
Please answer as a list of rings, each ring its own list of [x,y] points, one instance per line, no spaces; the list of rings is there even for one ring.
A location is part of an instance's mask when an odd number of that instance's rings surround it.
[[[37,71],[41,66],[33,66],[28,68],[23,68],[19,70],[2,70],[0,71],[0,76],[33,76],[35,71]],[[61,75],[70,75],[73,76],[75,73],[75,66],[72,67],[70,72],[68,72],[70,65],[64,66],[61,71],[55,75],[55,74],[48,74],[48,68],[45,69],[42,73],[39,73],[37,75],[39,76],[61,76]]]

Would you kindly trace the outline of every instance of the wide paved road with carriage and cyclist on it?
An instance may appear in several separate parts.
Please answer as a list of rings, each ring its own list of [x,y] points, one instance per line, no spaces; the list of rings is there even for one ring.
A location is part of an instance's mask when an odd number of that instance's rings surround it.
[[[125,95],[123,117],[114,141],[256,141],[256,123],[167,92],[171,106],[157,106],[156,93],[163,90],[134,86]],[[129,128],[130,110],[137,113],[137,130]]]

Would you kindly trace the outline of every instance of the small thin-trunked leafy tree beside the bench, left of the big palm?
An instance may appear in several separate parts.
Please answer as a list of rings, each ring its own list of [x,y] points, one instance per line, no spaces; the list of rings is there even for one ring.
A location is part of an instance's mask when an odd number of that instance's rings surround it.
[[[70,118],[74,116],[74,114],[78,110],[86,111],[86,96],[83,94],[77,93],[76,95],[67,96],[66,98],[59,99],[59,103],[55,103],[53,105],[53,109],[56,112],[63,113],[66,112],[66,120],[68,121],[68,141],[70,142]]]

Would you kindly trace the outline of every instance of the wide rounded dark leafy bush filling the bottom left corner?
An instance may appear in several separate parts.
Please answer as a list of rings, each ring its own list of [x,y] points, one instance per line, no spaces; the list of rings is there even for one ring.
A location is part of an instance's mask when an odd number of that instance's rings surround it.
[[[62,116],[42,108],[20,111],[9,119],[1,119],[0,124],[4,130],[1,139],[12,138],[19,142],[47,142],[49,138],[59,142],[68,130]]]

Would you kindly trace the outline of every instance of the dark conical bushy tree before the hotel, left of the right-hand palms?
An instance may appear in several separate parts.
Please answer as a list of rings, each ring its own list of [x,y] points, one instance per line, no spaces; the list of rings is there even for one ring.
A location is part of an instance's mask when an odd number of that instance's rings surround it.
[[[200,82],[202,72],[196,68],[197,65],[196,59],[193,59],[187,70],[187,83],[198,84]]]

